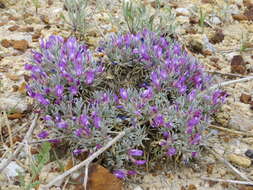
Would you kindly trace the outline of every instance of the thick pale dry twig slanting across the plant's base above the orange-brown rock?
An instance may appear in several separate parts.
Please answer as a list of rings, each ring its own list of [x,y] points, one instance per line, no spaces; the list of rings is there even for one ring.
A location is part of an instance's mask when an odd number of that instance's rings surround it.
[[[87,166],[88,164],[90,164],[95,158],[97,158],[100,154],[102,154],[104,151],[106,151],[108,148],[110,148],[113,144],[115,144],[119,139],[121,139],[124,135],[126,134],[125,131],[122,131],[121,133],[119,133],[114,139],[112,139],[110,142],[108,142],[104,147],[102,147],[101,149],[99,149],[97,152],[95,152],[94,154],[92,154],[90,157],[88,157],[86,160],[82,161],[81,163],[77,164],[76,166],[70,168],[69,170],[67,170],[66,172],[64,172],[63,174],[57,176],[56,178],[54,178],[50,183],[48,183],[47,185],[42,186],[42,189],[49,189],[50,187],[52,187],[55,183],[57,183],[58,181],[62,180],[63,178],[67,177],[68,175],[70,175],[71,173],[75,172],[76,170],[79,170],[80,168]]]

